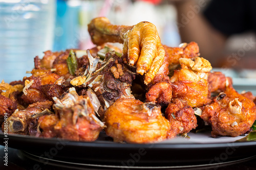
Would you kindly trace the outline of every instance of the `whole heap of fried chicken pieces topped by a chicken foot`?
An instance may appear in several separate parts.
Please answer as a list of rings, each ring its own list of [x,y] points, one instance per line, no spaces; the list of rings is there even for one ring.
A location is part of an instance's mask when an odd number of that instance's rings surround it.
[[[47,51],[35,57],[32,76],[0,84],[0,118],[8,115],[9,134],[94,141],[104,131],[116,142],[149,143],[184,135],[199,122],[211,126],[213,137],[251,130],[255,96],[210,72],[197,43],[162,45],[146,21],[116,26],[100,17],[88,30],[96,47]]]

